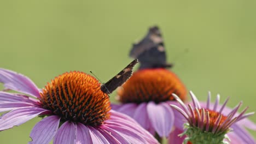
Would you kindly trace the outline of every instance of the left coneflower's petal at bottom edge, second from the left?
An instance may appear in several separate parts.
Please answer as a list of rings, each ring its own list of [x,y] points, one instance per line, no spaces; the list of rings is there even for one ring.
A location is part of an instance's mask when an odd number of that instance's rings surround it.
[[[73,122],[65,122],[61,125],[54,136],[55,144],[73,144],[75,142],[75,124]]]

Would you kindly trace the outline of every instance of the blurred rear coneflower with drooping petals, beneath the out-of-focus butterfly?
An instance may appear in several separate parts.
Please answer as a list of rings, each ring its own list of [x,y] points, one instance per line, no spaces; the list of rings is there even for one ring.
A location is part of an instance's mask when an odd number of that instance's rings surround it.
[[[177,111],[170,104],[172,93],[186,98],[186,89],[178,77],[164,68],[142,69],[118,89],[120,105],[112,105],[114,110],[134,118],[143,128],[156,137],[168,137],[171,133]]]

